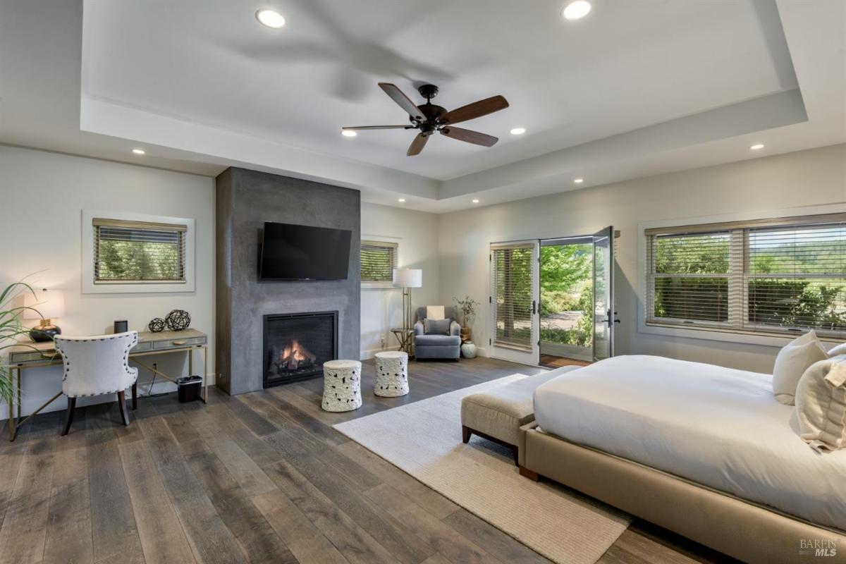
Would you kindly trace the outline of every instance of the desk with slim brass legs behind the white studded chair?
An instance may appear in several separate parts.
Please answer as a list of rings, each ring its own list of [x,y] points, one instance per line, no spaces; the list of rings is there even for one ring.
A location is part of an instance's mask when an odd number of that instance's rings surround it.
[[[151,366],[141,362],[138,357],[147,356],[151,354],[168,354],[168,353],[188,353],[188,375],[194,371],[194,352],[202,350],[203,352],[203,402],[208,402],[209,386],[206,382],[206,375],[208,374],[208,336],[202,331],[196,329],[185,329],[184,331],[160,331],[153,333],[151,331],[138,332],[138,344],[129,351],[129,359],[138,364],[140,367],[150,370],[154,374],[162,376],[165,380],[176,382],[171,376],[164,374],[161,370],[156,370]],[[52,402],[55,402],[62,392],[58,392],[55,396],[47,400],[40,408],[34,412],[21,418],[21,398],[20,398],[20,375],[26,368],[35,368],[36,366],[51,366],[52,364],[62,364],[62,356],[58,353],[52,341],[48,342],[26,342],[21,343],[16,347],[8,349],[8,380],[9,383],[14,384],[15,375],[17,375],[17,386],[15,393],[17,394],[17,401],[12,401],[8,406],[8,440],[14,441],[15,435],[21,425],[25,424],[30,417],[36,413],[41,412]],[[15,404],[17,404],[18,415],[15,418]]]

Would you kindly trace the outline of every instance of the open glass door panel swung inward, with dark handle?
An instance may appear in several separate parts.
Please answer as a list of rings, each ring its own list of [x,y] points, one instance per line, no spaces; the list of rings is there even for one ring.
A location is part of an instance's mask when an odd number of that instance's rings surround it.
[[[614,228],[593,236],[593,359],[614,354]]]

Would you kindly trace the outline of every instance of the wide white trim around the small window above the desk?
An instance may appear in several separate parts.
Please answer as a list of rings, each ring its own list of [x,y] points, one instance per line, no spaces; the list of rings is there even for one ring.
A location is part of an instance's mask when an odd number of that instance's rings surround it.
[[[173,223],[188,227],[185,232],[185,281],[120,284],[94,282],[94,226],[95,217],[130,222]],[[82,211],[82,293],[173,293],[194,292],[195,282],[195,233],[194,220],[189,217],[148,216],[124,211]]]

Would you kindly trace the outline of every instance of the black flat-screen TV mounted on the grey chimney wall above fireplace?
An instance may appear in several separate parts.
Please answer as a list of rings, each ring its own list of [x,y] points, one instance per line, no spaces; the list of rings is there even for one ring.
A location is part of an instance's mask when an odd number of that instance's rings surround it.
[[[265,222],[262,280],[344,280],[349,270],[348,229]]]

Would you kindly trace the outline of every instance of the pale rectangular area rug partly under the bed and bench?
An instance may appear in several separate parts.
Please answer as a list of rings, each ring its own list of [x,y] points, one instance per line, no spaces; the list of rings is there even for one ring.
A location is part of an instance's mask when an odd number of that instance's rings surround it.
[[[554,484],[519,475],[507,449],[461,441],[461,398],[510,375],[334,425],[380,457],[552,561],[593,564],[629,517]],[[412,383],[412,386],[414,384]]]

